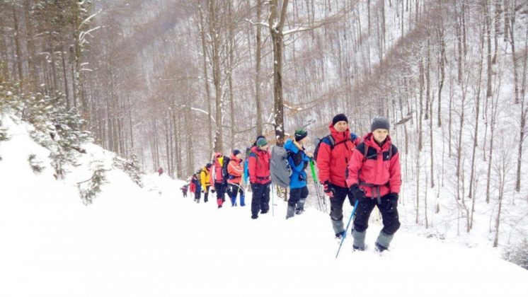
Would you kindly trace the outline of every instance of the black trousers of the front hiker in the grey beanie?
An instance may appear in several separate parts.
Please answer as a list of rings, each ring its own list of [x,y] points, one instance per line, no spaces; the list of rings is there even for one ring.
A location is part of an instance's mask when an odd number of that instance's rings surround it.
[[[369,217],[374,206],[378,206],[379,212],[381,213],[381,219],[383,221],[383,229],[381,231],[387,235],[396,233],[398,228],[400,228],[397,209],[398,200],[392,199],[389,195],[381,197],[380,204],[378,204],[376,198],[360,198],[354,219],[354,230],[357,232],[363,232],[369,228]]]

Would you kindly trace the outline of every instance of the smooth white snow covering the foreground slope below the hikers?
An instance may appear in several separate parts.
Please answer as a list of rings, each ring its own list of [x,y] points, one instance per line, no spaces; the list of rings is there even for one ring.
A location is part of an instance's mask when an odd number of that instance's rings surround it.
[[[54,180],[32,127],[2,117],[0,296],[526,296],[528,271],[493,250],[423,238],[403,226],[391,251],[366,252],[350,237],[338,259],[327,214],[286,205],[251,220],[248,206],[217,209],[183,198],[182,181],[157,173],[139,188],[112,168],[113,153],[88,144],[79,167]],[[28,155],[47,169],[33,173]],[[84,206],[76,182],[104,161],[108,183]],[[345,219],[346,219],[345,215]]]

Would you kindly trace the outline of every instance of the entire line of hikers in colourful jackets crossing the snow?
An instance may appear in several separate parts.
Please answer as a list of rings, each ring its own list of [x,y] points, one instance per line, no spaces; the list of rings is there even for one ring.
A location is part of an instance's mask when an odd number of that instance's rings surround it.
[[[266,214],[270,210],[270,184],[272,175],[277,175],[272,171],[280,168],[279,171],[287,170],[282,174],[287,175],[287,182],[282,183],[290,189],[286,214],[286,219],[289,219],[304,211],[309,194],[306,168],[313,160],[316,161],[318,180],[330,199],[335,237],[343,238],[346,232],[343,224],[345,199],[348,197],[350,205],[357,200],[352,247],[354,250],[365,250],[369,216],[377,206],[384,228],[378,235],[375,248],[382,252],[389,248],[394,233],[400,227],[397,206],[401,167],[398,148],[389,136],[389,120],[374,118],[370,132],[362,139],[350,132],[348,118],[343,114],[335,115],[328,129],[330,134],[318,141],[314,154],[305,148],[308,132],[297,129],[293,139],[287,139],[284,145],[285,166],[280,165],[280,160],[275,160],[279,157],[272,157],[264,136],[258,136],[253,146],[246,150],[244,160],[239,150],[234,150],[229,158],[215,153],[212,163],[207,163],[191,178],[190,192],[195,193],[195,201],[200,202],[203,189],[204,202],[207,202],[208,193],[216,190],[218,208],[222,208],[225,202],[224,194],[231,199],[231,206],[236,206],[236,196],[239,195],[240,206],[245,206],[241,182],[244,180],[247,184],[249,179],[253,193],[251,219],[258,219],[258,214]],[[187,188],[182,188],[182,191],[186,197]]]

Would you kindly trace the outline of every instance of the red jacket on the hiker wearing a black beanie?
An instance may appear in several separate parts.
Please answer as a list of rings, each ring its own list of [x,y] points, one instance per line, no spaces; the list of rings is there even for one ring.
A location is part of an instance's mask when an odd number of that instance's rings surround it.
[[[319,171],[319,180],[321,183],[331,182],[332,185],[339,187],[347,187],[345,180],[345,171],[347,169],[348,162],[352,157],[352,151],[354,151],[355,144],[350,139],[350,130],[347,129],[345,132],[337,132],[331,123],[328,126],[330,134],[334,139],[333,149],[328,142],[323,140],[319,145],[317,153],[317,169]],[[339,142],[344,141],[341,144]]]

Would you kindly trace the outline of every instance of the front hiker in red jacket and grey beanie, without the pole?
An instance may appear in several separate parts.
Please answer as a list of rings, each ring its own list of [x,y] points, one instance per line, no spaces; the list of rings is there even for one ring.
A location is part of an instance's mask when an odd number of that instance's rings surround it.
[[[383,221],[383,229],[375,243],[379,252],[389,248],[394,233],[400,228],[397,209],[401,187],[400,155],[391,142],[389,128],[389,120],[374,118],[371,132],[363,137],[348,164],[347,185],[359,201],[352,231],[354,250],[365,250],[365,235],[374,206],[378,207]]]

